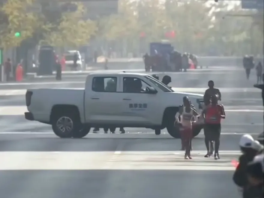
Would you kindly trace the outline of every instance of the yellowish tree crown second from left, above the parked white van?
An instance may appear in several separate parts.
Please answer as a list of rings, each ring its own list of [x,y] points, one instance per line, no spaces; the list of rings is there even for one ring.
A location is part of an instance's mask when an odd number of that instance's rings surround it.
[[[85,8],[81,3],[76,3],[76,11],[61,14],[56,29],[45,34],[45,40],[54,46],[81,46],[89,42],[95,34],[96,23],[91,20],[84,20]]]

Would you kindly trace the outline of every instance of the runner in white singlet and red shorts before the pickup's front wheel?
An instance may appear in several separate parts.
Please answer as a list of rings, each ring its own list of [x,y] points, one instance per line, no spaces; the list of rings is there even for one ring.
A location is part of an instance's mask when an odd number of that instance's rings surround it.
[[[181,117],[181,121],[179,120]],[[184,101],[184,106],[180,107],[176,113],[176,123],[179,124],[181,138],[185,148],[184,159],[192,159],[190,156],[191,140],[193,138],[192,119],[197,121],[198,113],[191,107],[190,100]]]

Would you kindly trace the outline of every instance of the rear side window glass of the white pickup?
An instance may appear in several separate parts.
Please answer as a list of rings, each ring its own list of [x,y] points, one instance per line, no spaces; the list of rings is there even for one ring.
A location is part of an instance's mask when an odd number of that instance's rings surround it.
[[[92,91],[96,92],[116,92],[116,77],[94,77]]]

